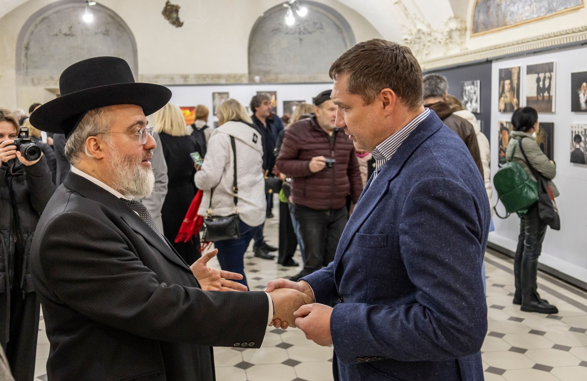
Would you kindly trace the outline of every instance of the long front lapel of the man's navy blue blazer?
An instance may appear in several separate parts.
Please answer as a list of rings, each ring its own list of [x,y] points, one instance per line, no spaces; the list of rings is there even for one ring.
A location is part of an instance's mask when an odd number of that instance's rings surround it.
[[[369,182],[365,186],[365,189],[363,189],[359,202],[357,202],[355,210],[352,215],[350,215],[349,222],[346,224],[342,237],[340,237],[338,248],[336,249],[335,271],[336,268],[338,268],[340,260],[348,248],[353,236],[357,230],[360,229],[367,217],[369,217],[373,209],[375,209],[377,203],[379,203],[387,193],[389,183],[399,175],[404,164],[406,164],[414,151],[416,151],[416,149],[420,147],[430,135],[434,134],[434,132],[438,131],[442,126],[443,123],[440,118],[438,118],[436,114],[430,113],[430,115],[421,121],[418,127],[410,133],[409,137],[402,142],[402,145],[400,145],[392,158],[383,166],[381,172],[377,174],[377,177],[373,179],[373,175],[371,175]]]

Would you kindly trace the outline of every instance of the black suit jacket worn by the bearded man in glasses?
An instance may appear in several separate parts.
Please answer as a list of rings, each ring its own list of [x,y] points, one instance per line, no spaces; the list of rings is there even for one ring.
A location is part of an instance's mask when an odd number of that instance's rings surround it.
[[[211,346],[259,348],[264,292],[203,291],[136,213],[70,172],[45,207],[31,273],[49,380],[214,379]]]

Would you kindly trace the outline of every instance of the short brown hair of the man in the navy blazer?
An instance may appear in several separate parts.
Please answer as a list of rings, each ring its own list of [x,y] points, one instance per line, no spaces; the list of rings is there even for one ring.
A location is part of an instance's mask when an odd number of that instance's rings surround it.
[[[330,78],[349,74],[349,93],[358,94],[364,104],[375,100],[389,88],[404,104],[416,108],[422,104],[422,70],[407,46],[371,39],[351,47],[330,66]]]

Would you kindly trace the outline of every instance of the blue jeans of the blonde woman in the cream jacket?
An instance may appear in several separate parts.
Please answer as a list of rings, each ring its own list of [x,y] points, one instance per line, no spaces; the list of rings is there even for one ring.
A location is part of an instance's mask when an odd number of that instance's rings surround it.
[[[218,262],[222,270],[231,271],[242,275],[242,280],[234,280],[235,282],[244,284],[248,287],[247,277],[245,277],[245,251],[249,247],[249,243],[258,227],[248,226],[242,222],[239,224],[241,237],[236,240],[221,240],[215,241],[214,247],[218,249]]]

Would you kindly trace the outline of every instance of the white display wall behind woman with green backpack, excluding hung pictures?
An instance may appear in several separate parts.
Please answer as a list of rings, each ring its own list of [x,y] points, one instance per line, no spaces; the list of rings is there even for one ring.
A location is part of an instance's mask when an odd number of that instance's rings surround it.
[[[587,47],[533,55],[518,59],[501,60],[492,64],[491,100],[491,176],[498,169],[498,130],[500,121],[510,121],[511,113],[500,113],[498,107],[498,72],[505,67],[522,67],[521,106],[525,105],[525,67],[528,64],[556,62],[556,112],[539,113],[539,121],[554,123],[554,160],[556,177],[554,182],[561,192],[556,205],[561,215],[561,230],[548,229],[542,247],[541,263],[556,268],[582,281],[587,281],[587,166],[571,164],[570,140],[572,123],[587,123],[587,113],[571,112],[571,73],[587,71]],[[493,205],[497,203],[494,192]],[[503,205],[498,205],[500,214]],[[489,240],[506,249],[515,251],[519,233],[518,216],[511,215],[505,220],[494,216],[495,232]]]

